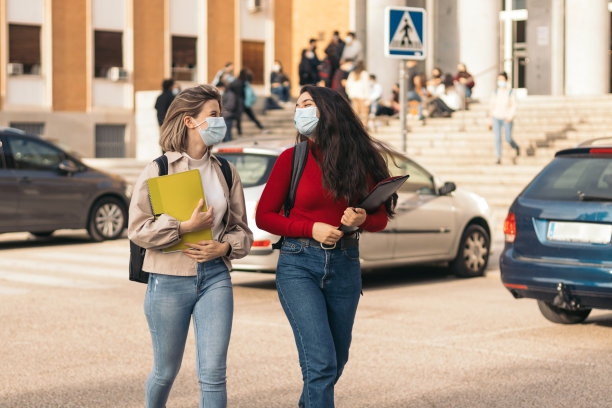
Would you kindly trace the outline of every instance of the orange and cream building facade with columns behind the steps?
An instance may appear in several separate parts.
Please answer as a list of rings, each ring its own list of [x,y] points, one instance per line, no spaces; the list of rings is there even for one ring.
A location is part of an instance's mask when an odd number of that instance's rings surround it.
[[[233,61],[265,93],[278,59],[296,95],[302,49],[315,38],[322,59],[334,30],[357,34],[388,97],[400,62],[384,56],[386,6],[427,10],[420,69],[465,63],[478,99],[501,70],[520,95],[611,90],[609,0],[0,0],[0,126],[150,159],[164,78],[208,83]]]

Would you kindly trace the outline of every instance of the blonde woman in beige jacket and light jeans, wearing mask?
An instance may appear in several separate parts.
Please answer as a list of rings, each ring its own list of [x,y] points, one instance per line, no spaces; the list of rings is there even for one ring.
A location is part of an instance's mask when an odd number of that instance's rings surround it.
[[[178,374],[189,321],[193,317],[200,407],[227,405],[226,359],[233,295],[231,259],[248,254],[253,234],[247,225],[240,176],[230,164],[232,186],[211,147],[225,136],[221,95],[211,85],[181,92],[170,105],[160,145],[168,174],[198,169],[208,211],[200,200],[187,221],[151,209],[147,180],[158,176],[156,162],[142,172],[130,203],[128,237],[145,248],[143,270],[150,272],[144,311],[153,342],[153,369],[147,379],[147,408],[166,406]],[[212,229],[213,240],[187,244],[188,250],[163,253],[190,231]]]

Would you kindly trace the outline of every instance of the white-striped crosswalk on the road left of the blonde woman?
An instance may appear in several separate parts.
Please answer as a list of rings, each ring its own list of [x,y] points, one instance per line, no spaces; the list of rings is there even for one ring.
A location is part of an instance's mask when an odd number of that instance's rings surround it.
[[[69,245],[2,247],[0,297],[23,295],[45,287],[112,289],[128,279],[129,244],[126,239]]]

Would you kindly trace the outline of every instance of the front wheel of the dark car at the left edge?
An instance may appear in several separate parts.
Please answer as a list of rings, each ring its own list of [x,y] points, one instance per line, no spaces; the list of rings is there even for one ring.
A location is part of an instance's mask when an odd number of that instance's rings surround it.
[[[94,241],[118,238],[123,232],[126,218],[121,201],[114,197],[102,197],[91,208],[87,232]]]

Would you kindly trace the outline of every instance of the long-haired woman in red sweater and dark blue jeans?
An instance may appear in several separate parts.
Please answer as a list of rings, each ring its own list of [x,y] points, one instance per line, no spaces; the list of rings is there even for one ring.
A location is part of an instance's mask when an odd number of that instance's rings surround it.
[[[341,224],[380,231],[397,200],[375,212],[355,208],[389,177],[382,151],[336,91],[305,86],[294,123],[309,152],[289,217],[280,214],[290,185],[293,148],[283,152],[257,207],[257,226],[283,236],[276,270],[278,295],[293,329],[304,386],[299,406],[334,406],[334,385],[348,360],[361,292],[359,237]]]

